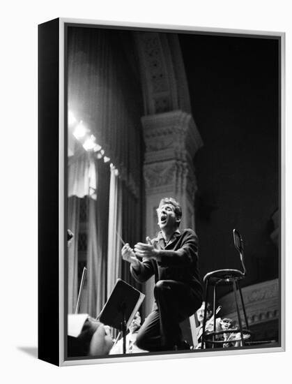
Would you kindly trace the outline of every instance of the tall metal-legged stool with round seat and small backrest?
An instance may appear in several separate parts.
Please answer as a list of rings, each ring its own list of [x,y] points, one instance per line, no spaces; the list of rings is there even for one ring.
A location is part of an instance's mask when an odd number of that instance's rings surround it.
[[[238,230],[233,229],[233,242],[234,246],[236,247],[236,250],[240,254],[240,261],[241,265],[243,267],[243,271],[240,271],[239,269],[218,269],[213,272],[209,272],[204,276],[203,282],[206,285],[206,293],[205,293],[205,310],[203,314],[203,334],[202,334],[202,340],[201,340],[201,348],[206,348],[206,341],[208,341],[208,344],[214,348],[215,346],[223,346],[223,344],[226,341],[222,340],[216,340],[216,337],[225,334],[236,334],[240,333],[240,337],[238,337],[236,340],[240,341],[241,346],[245,345],[245,339],[249,339],[251,332],[249,331],[249,325],[247,321],[247,314],[245,311],[245,304],[243,302],[243,293],[241,292],[240,288],[240,281],[245,277],[246,269],[245,269],[245,263],[244,263],[244,255],[243,255],[243,239],[240,236],[240,233]],[[232,284],[233,287],[233,293],[234,293],[234,300],[236,303],[236,312],[238,316],[238,325],[239,327],[232,330],[224,330],[224,331],[216,331],[216,295],[217,295],[217,286],[224,286],[227,284]],[[214,329],[213,332],[210,332],[206,334],[206,316],[207,316],[207,303],[208,303],[208,295],[210,291],[210,287],[213,286],[213,316],[214,316]],[[241,305],[243,308],[243,315],[245,317],[245,328],[243,328],[243,323],[240,316],[240,309],[239,309],[239,303],[238,303],[238,290],[240,293],[240,300]]]

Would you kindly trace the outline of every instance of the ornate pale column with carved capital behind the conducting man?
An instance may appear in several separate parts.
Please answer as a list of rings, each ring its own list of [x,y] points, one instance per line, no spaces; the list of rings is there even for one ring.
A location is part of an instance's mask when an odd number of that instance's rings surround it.
[[[163,197],[173,197],[183,209],[181,228],[194,229],[194,193],[197,182],[193,158],[203,145],[192,115],[181,110],[142,118],[144,180],[146,191],[146,235],[155,236],[156,209]],[[153,281],[146,284],[146,314],[153,301]]]

